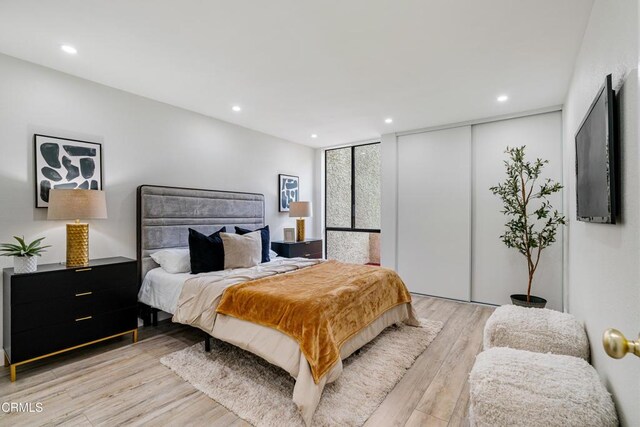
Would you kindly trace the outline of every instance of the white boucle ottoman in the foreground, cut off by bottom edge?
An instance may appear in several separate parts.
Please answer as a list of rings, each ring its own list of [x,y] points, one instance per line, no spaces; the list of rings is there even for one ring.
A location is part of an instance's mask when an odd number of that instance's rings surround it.
[[[617,426],[611,395],[583,359],[495,347],[469,374],[472,426]]]

